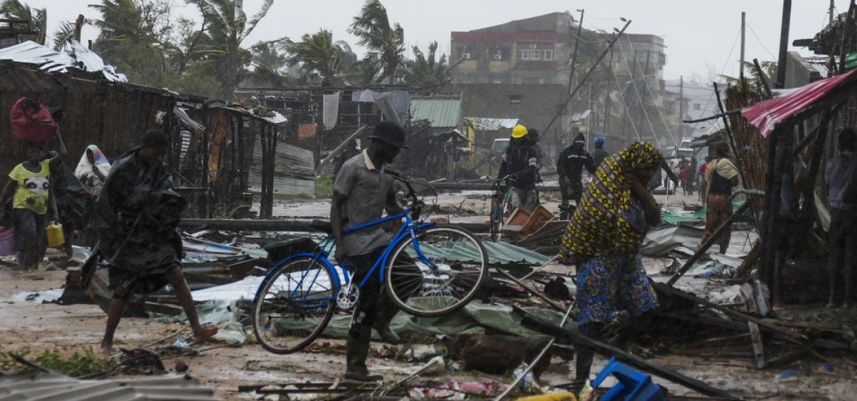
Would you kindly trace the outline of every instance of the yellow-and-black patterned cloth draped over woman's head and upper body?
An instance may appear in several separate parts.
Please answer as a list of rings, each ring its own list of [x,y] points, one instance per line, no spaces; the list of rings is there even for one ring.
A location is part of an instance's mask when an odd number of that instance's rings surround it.
[[[627,218],[631,180],[635,171],[654,169],[662,161],[650,142],[633,142],[604,159],[568,222],[560,260],[573,263],[580,257],[636,253],[645,233]]]

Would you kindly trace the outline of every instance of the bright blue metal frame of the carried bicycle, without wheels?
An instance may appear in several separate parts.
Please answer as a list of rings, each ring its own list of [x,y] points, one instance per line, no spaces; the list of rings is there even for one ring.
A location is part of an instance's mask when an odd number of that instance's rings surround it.
[[[420,260],[423,260],[423,262],[430,264],[430,261],[428,261],[428,258],[425,256],[425,254],[423,254],[423,250],[420,248],[419,242],[417,241],[417,230],[423,230],[425,228],[434,226],[435,223],[423,223],[423,224],[418,224],[418,225],[414,224],[414,220],[411,218],[411,208],[410,207],[405,207],[405,209],[402,212],[399,212],[399,213],[394,214],[392,216],[387,216],[386,218],[381,218],[378,220],[370,221],[369,223],[358,224],[354,227],[345,229],[345,234],[350,234],[350,233],[353,233],[353,232],[356,232],[359,230],[363,230],[363,229],[366,229],[369,227],[374,227],[374,226],[379,225],[379,224],[385,224],[385,223],[388,223],[388,222],[391,222],[391,221],[394,221],[397,219],[401,219],[401,218],[405,218],[405,224],[402,224],[402,226],[399,228],[399,231],[396,233],[395,236],[393,236],[393,239],[390,241],[390,243],[387,244],[387,248],[384,248],[384,253],[381,254],[381,257],[378,258],[378,260],[375,260],[375,264],[372,265],[371,269],[369,269],[369,272],[366,274],[366,277],[364,277],[363,280],[357,284],[357,288],[362,289],[363,286],[368,282],[369,278],[371,278],[375,274],[375,272],[378,271],[379,268],[381,269],[381,272],[380,272],[380,275],[378,276],[378,278],[383,283],[384,278],[386,277],[386,273],[387,273],[387,260],[389,259],[390,253],[393,252],[393,247],[395,247],[396,244],[398,244],[403,238],[405,238],[407,236],[411,236],[411,242],[413,242],[414,248],[417,249],[417,257]],[[288,262],[289,260],[293,260],[293,259],[300,258],[300,257],[311,257],[313,260],[312,260],[312,263],[310,264],[310,266],[314,265],[316,261],[319,261],[319,262],[321,262],[321,264],[326,266],[327,269],[329,269],[331,272],[336,272],[336,268],[335,268],[335,266],[333,266],[333,263],[331,263],[331,261],[327,259],[327,255],[329,255],[331,253],[331,251],[333,250],[333,246],[334,246],[333,236],[327,236],[325,241],[321,242],[321,244],[315,249],[314,252],[303,252],[300,254],[293,254],[290,257],[285,258],[284,260],[281,260],[279,262],[279,264],[283,264],[283,263]],[[349,274],[345,274],[345,267],[342,267],[340,264],[339,269],[341,269],[341,271],[344,272],[343,277],[345,278],[345,282],[343,283],[343,282],[339,281],[339,274],[333,274],[333,280],[334,280],[333,286],[337,290],[339,290],[339,288],[341,288],[343,285],[348,285],[351,283],[351,278],[349,277]],[[266,274],[266,278],[267,278],[267,276],[273,274],[273,272],[275,270],[276,269],[270,269]],[[316,275],[316,277],[317,277],[317,275]],[[294,290],[296,293],[297,293],[297,291],[299,291],[303,287],[304,278],[305,277],[301,278],[301,281],[298,283],[296,290]],[[312,280],[315,281],[315,278],[312,278]],[[313,283],[310,283],[310,284],[313,284]]]

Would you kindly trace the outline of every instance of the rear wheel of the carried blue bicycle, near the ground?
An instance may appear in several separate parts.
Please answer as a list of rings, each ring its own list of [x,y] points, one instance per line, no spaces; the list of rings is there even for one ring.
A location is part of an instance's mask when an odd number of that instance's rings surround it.
[[[274,354],[311,344],[336,306],[333,272],[310,257],[289,260],[262,281],[253,302],[253,332]]]

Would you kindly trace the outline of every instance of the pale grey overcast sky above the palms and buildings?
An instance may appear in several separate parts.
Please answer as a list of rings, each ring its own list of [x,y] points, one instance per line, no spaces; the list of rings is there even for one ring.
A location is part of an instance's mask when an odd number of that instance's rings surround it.
[[[51,33],[60,21],[74,21],[76,15],[97,18],[87,7],[99,0],[21,0],[31,7],[48,9]],[[187,15],[194,9],[175,0]],[[254,15],[261,0],[244,0],[247,15]],[[779,48],[781,0],[382,0],[390,20],[405,28],[405,41],[425,48],[437,40],[449,53],[450,32],[470,31],[507,21],[520,20],[551,12],[571,11],[575,19],[585,9],[584,27],[611,31],[621,27],[619,17],[632,20],[629,33],[662,36],[667,45],[664,77],[680,75],[707,77],[714,74],[738,75],[740,54],[740,15],[746,11],[746,59],[776,61]],[[848,10],[848,0],[835,0],[836,13]],[[245,47],[261,40],[281,37],[300,38],[320,28],[333,31],[335,40],[345,39],[358,54],[353,36],[346,32],[362,0],[275,0],[273,7],[250,35]],[[793,0],[789,44],[794,39],[812,38],[828,21],[829,0]],[[94,39],[97,31],[84,31],[84,40]],[[789,45],[791,51],[795,49]]]

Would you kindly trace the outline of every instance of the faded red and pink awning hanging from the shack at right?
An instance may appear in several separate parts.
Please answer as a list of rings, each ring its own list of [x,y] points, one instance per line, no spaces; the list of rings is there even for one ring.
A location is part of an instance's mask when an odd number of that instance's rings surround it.
[[[842,82],[847,81],[848,78],[851,78],[855,71],[857,69],[848,74],[836,75],[824,80],[815,81],[809,85],[800,87],[800,89],[797,89],[793,93],[745,107],[741,110],[741,115],[756,126],[762,135],[767,138],[774,131],[774,128],[776,128],[776,124],[786,121],[789,117],[793,117],[809,105],[822,99],[830,90],[838,87]],[[857,77],[857,75],[854,75],[854,77]]]

